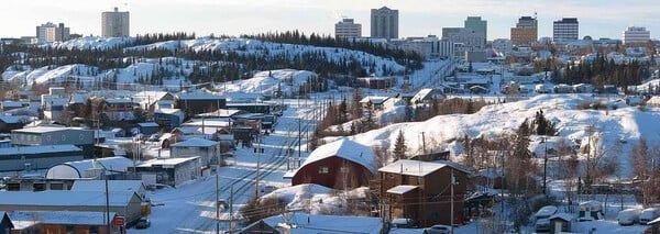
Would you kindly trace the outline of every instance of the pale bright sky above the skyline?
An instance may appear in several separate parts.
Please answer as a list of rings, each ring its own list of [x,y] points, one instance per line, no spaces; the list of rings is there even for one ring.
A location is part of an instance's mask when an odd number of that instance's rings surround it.
[[[0,2],[0,37],[34,36],[42,23],[65,23],[72,33],[101,34],[101,12],[131,12],[131,36],[195,32],[198,36],[299,30],[332,34],[341,15],[355,19],[369,36],[370,11],[399,10],[399,37],[441,36],[466,16],[488,21],[488,41],[508,38],[519,16],[538,13],[539,37],[552,36],[552,22],[578,18],[580,38],[620,38],[627,26],[645,26],[660,38],[660,13],[652,0],[6,0]]]

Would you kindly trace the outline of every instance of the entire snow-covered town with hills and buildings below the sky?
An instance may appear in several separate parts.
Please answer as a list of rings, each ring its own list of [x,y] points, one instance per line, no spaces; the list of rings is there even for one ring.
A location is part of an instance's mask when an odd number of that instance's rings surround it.
[[[125,5],[0,38],[0,234],[660,233],[657,15],[201,35]]]

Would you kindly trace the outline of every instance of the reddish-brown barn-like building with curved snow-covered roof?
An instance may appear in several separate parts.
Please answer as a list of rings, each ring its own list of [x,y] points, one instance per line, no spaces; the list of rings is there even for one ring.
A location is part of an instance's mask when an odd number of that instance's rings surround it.
[[[376,175],[375,156],[367,146],[342,138],[311,152],[292,185],[316,183],[334,189],[367,186]]]

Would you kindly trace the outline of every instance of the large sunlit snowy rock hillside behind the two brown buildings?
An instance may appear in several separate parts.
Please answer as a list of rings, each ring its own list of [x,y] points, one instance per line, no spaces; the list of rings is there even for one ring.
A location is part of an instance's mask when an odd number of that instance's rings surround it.
[[[617,105],[616,110],[579,110],[584,101],[601,101],[608,105]],[[421,153],[422,133],[427,149],[440,146],[455,147],[457,140],[469,135],[496,137],[503,133],[513,133],[525,119],[532,119],[539,110],[547,119],[553,121],[560,130],[559,135],[570,140],[579,140],[586,144],[588,125],[601,132],[602,143],[610,147],[616,142],[623,145],[623,157],[618,160],[628,174],[627,155],[630,145],[644,136],[650,145],[660,144],[660,109],[647,108],[644,111],[628,107],[624,102],[612,99],[593,98],[588,94],[542,94],[518,102],[484,107],[474,114],[439,115],[425,122],[393,124],[380,130],[353,136],[354,141],[370,146],[394,149],[399,131],[403,131],[409,154]]]

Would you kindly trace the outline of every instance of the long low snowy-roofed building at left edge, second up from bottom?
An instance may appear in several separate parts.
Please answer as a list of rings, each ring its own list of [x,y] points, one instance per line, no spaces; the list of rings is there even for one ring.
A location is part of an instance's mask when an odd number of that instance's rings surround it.
[[[108,198],[108,203],[106,203]],[[134,191],[68,191],[46,190],[40,192],[13,191],[0,192],[2,211],[80,211],[109,212],[124,216],[127,223],[141,216],[142,199]]]

